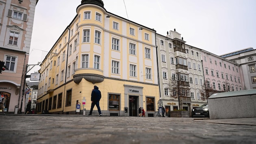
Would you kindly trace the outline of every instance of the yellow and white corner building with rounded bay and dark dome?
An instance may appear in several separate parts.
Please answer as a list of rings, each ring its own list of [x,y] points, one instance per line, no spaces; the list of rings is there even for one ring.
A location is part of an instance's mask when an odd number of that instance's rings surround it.
[[[97,85],[102,115],[138,116],[143,107],[154,116],[156,31],[109,13],[102,0],[82,0],[76,11],[40,65],[37,113],[89,114]],[[98,115],[96,107],[92,114]]]

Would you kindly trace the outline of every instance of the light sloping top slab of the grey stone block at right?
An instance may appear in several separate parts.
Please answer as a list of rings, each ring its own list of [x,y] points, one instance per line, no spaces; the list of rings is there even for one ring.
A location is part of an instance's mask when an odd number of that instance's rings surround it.
[[[224,93],[214,93],[208,99],[220,98],[220,97],[233,97],[241,95],[256,95],[256,89],[242,90],[242,91],[229,91]]]

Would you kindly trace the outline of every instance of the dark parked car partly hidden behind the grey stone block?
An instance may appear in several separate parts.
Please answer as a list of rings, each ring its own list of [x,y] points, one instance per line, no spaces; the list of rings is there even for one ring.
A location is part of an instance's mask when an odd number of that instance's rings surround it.
[[[192,109],[192,117],[210,117],[208,104]]]

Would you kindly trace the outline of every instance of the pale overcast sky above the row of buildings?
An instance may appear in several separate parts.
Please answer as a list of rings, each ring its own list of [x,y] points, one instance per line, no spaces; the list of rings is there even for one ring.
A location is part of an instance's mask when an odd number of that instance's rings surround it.
[[[154,28],[174,30],[193,47],[216,55],[256,49],[256,0],[102,0],[106,11]],[[76,16],[81,0],[39,0],[28,64],[42,61]],[[127,11],[127,13],[126,13]],[[35,67],[28,73],[39,70]]]

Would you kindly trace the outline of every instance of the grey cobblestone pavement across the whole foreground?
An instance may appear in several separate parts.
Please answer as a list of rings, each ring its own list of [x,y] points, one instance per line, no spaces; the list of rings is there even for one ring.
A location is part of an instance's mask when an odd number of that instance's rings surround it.
[[[0,144],[256,143],[256,118],[210,120],[6,114],[0,115],[0,120],[4,134]],[[223,124],[225,120],[230,121],[229,124]]]

